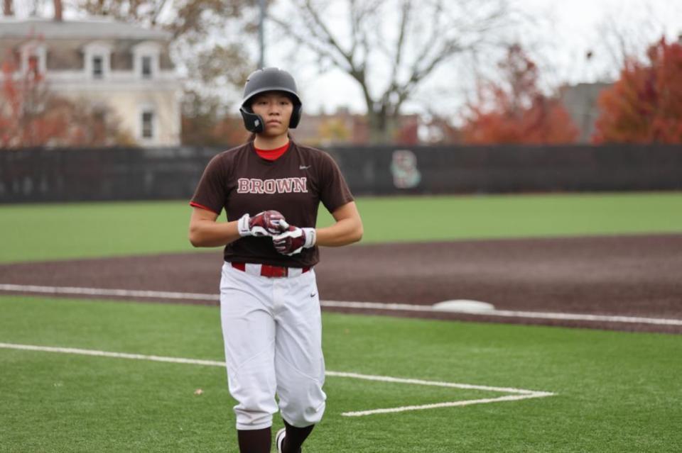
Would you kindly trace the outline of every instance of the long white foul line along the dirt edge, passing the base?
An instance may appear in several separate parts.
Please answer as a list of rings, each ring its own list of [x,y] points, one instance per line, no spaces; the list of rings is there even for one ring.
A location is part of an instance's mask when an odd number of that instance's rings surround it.
[[[25,293],[46,294],[70,294],[79,296],[117,296],[139,298],[166,298],[190,301],[220,301],[217,294],[206,293],[179,293],[173,291],[142,291],[134,289],[104,289],[82,288],[76,286],[38,286],[0,284],[0,291],[16,291]],[[682,319],[670,318],[644,318],[639,316],[620,315],[588,315],[583,313],[551,313],[541,311],[511,311],[511,310],[434,310],[432,306],[416,305],[408,303],[379,303],[379,302],[350,302],[350,301],[320,301],[320,305],[326,308],[354,308],[356,310],[391,310],[391,311],[418,311],[426,313],[462,313],[474,316],[498,316],[502,318],[529,318],[547,320],[574,320],[592,321],[601,323],[634,323],[654,325],[682,325]]]

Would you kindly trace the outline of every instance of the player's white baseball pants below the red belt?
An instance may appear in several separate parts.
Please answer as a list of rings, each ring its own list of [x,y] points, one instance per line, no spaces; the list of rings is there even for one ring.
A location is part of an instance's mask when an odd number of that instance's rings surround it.
[[[296,427],[318,423],[327,396],[315,272],[269,278],[226,262],[220,281],[220,318],[229,393],[237,400],[238,430],[272,425],[279,410]]]

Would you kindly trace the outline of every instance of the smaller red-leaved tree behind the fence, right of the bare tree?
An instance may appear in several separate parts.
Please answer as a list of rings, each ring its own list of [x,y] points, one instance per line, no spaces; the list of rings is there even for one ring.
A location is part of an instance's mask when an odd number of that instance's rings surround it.
[[[511,45],[498,66],[503,82],[482,84],[477,101],[468,105],[471,113],[462,128],[465,142],[575,142],[578,128],[558,97],[546,96],[538,88],[538,67],[520,45]]]

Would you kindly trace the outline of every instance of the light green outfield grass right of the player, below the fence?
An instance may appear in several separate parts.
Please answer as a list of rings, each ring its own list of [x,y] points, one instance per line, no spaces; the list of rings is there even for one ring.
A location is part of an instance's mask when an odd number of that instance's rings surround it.
[[[682,193],[362,198],[365,242],[682,232]]]

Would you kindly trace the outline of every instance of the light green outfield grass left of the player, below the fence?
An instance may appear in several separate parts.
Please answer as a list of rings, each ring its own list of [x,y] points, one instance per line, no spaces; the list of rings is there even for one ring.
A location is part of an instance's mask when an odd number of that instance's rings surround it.
[[[0,206],[0,262],[192,250],[180,201]]]

